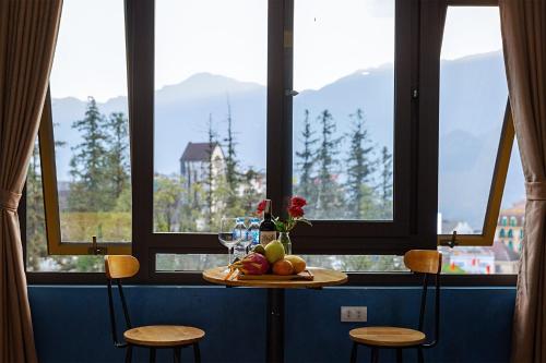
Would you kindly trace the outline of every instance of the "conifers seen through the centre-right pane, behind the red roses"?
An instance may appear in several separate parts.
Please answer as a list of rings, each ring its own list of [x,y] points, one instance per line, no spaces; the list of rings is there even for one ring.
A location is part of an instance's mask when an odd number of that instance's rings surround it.
[[[301,148],[296,152],[299,180],[295,192],[308,199],[314,219],[391,219],[392,154],[377,153],[363,109],[348,116],[352,129],[337,134],[332,113],[324,109],[311,123],[304,112]],[[348,150],[341,153],[343,142]]]

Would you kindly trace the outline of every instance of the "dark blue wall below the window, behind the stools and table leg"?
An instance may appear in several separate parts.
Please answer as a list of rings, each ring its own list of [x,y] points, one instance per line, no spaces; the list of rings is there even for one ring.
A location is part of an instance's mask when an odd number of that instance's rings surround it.
[[[39,361],[122,362],[109,332],[106,288],[29,287]],[[508,362],[513,288],[444,288],[439,344],[425,351],[427,362]],[[206,331],[203,362],[263,362],[266,293],[223,287],[128,287],[133,325],[185,324]],[[348,330],[340,306],[368,306],[369,325],[415,326],[417,288],[331,288],[286,292],[286,361],[348,362]],[[158,362],[171,362],[170,352]],[[359,361],[369,361],[366,348]],[[416,353],[407,350],[405,362]],[[146,361],[138,349],[134,361]],[[191,350],[182,360],[192,361]],[[393,360],[382,351],[380,361]]]

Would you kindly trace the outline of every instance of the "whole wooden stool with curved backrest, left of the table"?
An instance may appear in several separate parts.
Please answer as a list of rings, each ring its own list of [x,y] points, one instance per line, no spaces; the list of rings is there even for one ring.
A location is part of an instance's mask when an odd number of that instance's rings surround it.
[[[203,339],[205,332],[199,328],[179,325],[149,325],[133,328],[129,318],[121,279],[129,278],[139,271],[139,261],[133,256],[108,255],[105,256],[105,271],[108,287],[108,303],[110,307],[110,325],[116,348],[127,348],[126,362],[131,362],[132,348],[143,347],[150,349],[150,362],[155,362],[156,349],[168,348],[174,350],[175,362],[180,362],[180,351],[186,347],[193,347],[195,362],[201,362],[199,341]],[[123,332],[126,342],[119,342],[117,338],[116,314],[114,310],[114,299],[111,282],[117,281],[123,316],[128,330]]]

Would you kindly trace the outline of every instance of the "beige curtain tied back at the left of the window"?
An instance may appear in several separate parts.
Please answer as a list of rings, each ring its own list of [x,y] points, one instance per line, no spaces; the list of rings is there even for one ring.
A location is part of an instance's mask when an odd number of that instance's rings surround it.
[[[17,205],[62,0],[0,0],[0,362],[36,362]]]

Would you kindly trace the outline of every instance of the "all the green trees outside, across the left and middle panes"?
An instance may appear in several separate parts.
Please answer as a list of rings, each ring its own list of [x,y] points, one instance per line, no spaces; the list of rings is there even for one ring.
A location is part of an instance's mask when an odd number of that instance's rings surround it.
[[[295,153],[295,174],[298,180],[294,185],[294,194],[308,199],[307,213],[310,218],[392,218],[392,155],[387,147],[379,148],[372,144],[361,109],[356,109],[348,118],[352,124],[349,132],[340,134],[334,117],[328,109],[314,117],[305,110],[304,128],[299,135],[301,143]],[[222,134],[215,128],[213,116],[209,116],[205,134],[212,162],[207,164],[204,178],[199,183],[188,185],[180,173],[154,174],[155,231],[216,231],[223,216],[252,215],[257,203],[265,197],[257,189],[258,182],[265,182],[264,172],[245,167],[239,159],[229,101],[221,124],[225,128]],[[71,180],[64,202],[61,202],[64,203],[61,208],[61,229],[67,234],[63,239],[87,241],[92,234],[102,234],[105,229],[110,240],[117,237],[130,240],[131,183],[127,117],[122,112],[108,116],[100,113],[95,99],[90,97],[84,117],[74,121],[72,129],[79,132],[81,141],[71,147]],[[348,143],[344,153],[342,143]],[[224,159],[215,168],[213,152],[216,145],[224,150]],[[64,145],[58,142],[57,146]],[[38,258],[33,256],[47,256],[37,147],[28,170],[27,203],[27,231],[32,237],[28,258],[37,269]],[[119,231],[112,231],[115,229]],[[91,259],[54,259],[62,269],[96,268]]]

